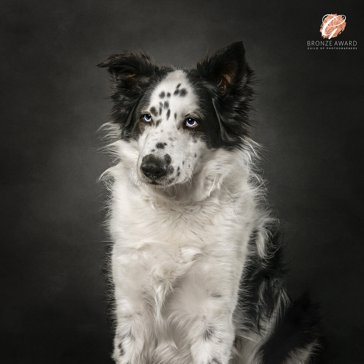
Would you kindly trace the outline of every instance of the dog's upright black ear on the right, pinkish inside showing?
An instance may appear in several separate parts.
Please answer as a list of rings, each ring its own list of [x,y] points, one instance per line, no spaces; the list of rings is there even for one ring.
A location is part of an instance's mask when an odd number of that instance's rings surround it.
[[[197,64],[197,73],[209,85],[226,145],[239,144],[249,134],[253,71],[245,60],[242,41],[223,47]]]

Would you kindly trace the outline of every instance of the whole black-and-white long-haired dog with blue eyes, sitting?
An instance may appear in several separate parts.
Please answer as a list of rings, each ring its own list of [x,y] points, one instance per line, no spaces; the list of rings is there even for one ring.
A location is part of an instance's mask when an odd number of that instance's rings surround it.
[[[119,364],[304,364],[319,347],[292,301],[254,173],[242,42],[192,70],[110,56],[108,231]]]

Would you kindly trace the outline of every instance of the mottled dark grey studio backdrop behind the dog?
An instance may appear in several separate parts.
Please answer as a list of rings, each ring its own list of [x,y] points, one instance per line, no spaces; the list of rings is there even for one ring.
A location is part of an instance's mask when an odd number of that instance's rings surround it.
[[[357,50],[307,49],[327,13],[347,16],[337,40]],[[95,64],[143,48],[191,67],[236,40],[260,80],[254,136],[289,292],[320,302],[326,363],[363,363],[362,1],[2,1],[0,18],[1,363],[111,363]]]

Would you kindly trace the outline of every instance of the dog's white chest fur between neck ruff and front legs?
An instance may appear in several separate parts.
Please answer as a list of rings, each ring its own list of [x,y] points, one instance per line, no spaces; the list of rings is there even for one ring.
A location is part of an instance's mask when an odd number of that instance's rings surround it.
[[[122,166],[114,168],[121,176]],[[155,309],[161,309],[196,263],[208,274],[222,256],[231,255],[226,268],[232,269],[236,261],[235,269],[241,270],[251,224],[239,217],[242,210],[252,210],[253,202],[248,188],[238,198],[229,192],[222,189],[202,201],[178,201],[148,194],[116,177],[110,220],[115,284],[130,280],[154,296]]]

